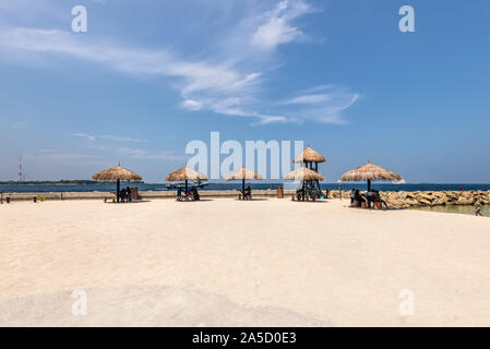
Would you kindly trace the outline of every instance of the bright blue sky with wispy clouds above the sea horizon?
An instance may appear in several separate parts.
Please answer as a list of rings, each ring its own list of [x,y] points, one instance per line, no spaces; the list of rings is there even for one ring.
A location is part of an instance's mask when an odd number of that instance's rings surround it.
[[[219,131],[303,140],[328,182],[368,157],[407,182],[490,182],[485,0],[0,0],[0,180],[22,154],[27,180],[121,161],[162,182]]]

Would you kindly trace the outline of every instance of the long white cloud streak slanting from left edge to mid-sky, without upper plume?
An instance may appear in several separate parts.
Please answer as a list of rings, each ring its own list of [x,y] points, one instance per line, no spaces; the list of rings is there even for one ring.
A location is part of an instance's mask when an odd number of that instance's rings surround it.
[[[70,32],[8,27],[0,31],[0,46],[8,49],[62,53],[106,64],[130,74],[151,74],[180,79],[177,85],[190,110],[206,107],[218,113],[223,100],[241,96],[250,99],[260,73],[241,72],[232,63],[186,61],[165,50],[128,49],[107,44],[84,43]],[[249,116],[250,112],[237,113]]]

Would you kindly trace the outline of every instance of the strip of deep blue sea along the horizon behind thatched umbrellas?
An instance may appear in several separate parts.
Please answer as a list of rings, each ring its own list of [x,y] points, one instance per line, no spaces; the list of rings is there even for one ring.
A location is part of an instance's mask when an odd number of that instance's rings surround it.
[[[277,186],[284,186],[285,189],[294,189],[295,183],[291,182],[277,182],[277,183],[263,183],[250,181],[250,186],[254,190],[276,189]],[[152,183],[122,183],[121,186],[138,186],[140,191],[167,191],[166,184],[152,184]],[[338,190],[337,183],[321,183],[323,190]],[[359,189],[366,190],[366,183],[343,183],[343,190]],[[392,183],[373,183],[373,189],[379,191],[444,191],[444,190],[490,190],[490,184],[431,184],[431,183],[406,183],[406,184],[392,184]],[[0,191],[5,193],[28,193],[28,192],[112,192],[116,189],[116,184],[112,183],[94,183],[94,184],[0,184]],[[240,182],[230,183],[210,183],[204,186],[204,190],[241,190]]]

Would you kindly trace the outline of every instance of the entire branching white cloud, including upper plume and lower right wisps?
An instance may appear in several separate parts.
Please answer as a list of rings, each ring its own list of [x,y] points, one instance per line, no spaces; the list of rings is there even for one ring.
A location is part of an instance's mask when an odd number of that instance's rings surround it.
[[[342,111],[357,97],[348,98],[348,95],[340,93],[312,93],[298,95],[283,104],[262,97],[267,68],[256,63],[256,56],[270,56],[280,45],[304,39],[307,35],[294,22],[312,12],[313,8],[304,0],[276,2],[263,12],[238,21],[239,29],[229,31],[235,36],[227,41],[231,44],[206,59],[188,59],[167,49],[131,48],[107,39],[88,39],[92,37],[67,31],[26,27],[0,28],[0,50],[15,55],[24,52],[27,57],[32,57],[32,52],[41,57],[69,56],[132,75],[170,79],[182,97],[180,107],[193,112],[211,110],[218,115],[247,118],[251,124],[309,120],[339,123]],[[243,46],[243,43],[246,53],[237,53],[236,48]],[[276,108],[277,105],[295,107]],[[141,142],[82,133],[76,136],[92,141]]]

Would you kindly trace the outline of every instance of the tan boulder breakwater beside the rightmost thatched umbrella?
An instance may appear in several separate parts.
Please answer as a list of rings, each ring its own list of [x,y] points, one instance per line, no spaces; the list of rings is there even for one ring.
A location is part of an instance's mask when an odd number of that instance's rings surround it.
[[[490,204],[489,191],[417,191],[380,192],[390,208],[415,208],[439,205],[473,205],[475,200],[482,205]],[[338,191],[331,191],[328,197],[338,198]],[[349,192],[342,192],[343,198],[349,198]]]

